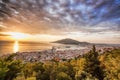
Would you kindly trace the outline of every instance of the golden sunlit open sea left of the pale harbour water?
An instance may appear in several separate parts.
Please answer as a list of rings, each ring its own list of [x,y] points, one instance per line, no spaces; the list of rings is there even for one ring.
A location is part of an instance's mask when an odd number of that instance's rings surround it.
[[[28,43],[28,42],[0,42],[0,54],[9,54],[15,52],[30,52],[51,49],[50,44]]]

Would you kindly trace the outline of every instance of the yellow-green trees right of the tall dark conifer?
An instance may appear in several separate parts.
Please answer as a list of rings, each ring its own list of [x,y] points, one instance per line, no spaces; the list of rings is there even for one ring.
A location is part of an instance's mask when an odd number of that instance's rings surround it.
[[[120,49],[108,51],[100,56],[104,67],[105,80],[120,80]]]

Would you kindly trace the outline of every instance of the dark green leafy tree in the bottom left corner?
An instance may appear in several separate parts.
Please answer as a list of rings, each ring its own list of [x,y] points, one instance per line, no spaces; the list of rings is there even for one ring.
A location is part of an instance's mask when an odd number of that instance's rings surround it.
[[[13,80],[21,72],[21,61],[13,60],[14,56],[0,59],[0,80]]]

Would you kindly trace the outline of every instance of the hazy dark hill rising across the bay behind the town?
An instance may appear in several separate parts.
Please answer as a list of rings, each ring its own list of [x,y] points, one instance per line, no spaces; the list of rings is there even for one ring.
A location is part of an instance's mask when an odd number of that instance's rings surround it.
[[[73,40],[70,38],[62,39],[62,40],[57,40],[54,41],[53,43],[61,43],[61,44],[75,44],[75,45],[88,45],[90,43],[88,42],[79,42],[77,40]]]

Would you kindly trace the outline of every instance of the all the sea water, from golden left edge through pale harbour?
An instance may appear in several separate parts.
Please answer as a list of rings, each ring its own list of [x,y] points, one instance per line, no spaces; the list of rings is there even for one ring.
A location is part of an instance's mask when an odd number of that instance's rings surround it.
[[[57,50],[87,49],[80,45],[65,45],[58,43],[0,41],[0,54],[12,54],[16,52],[38,52],[56,47]]]

